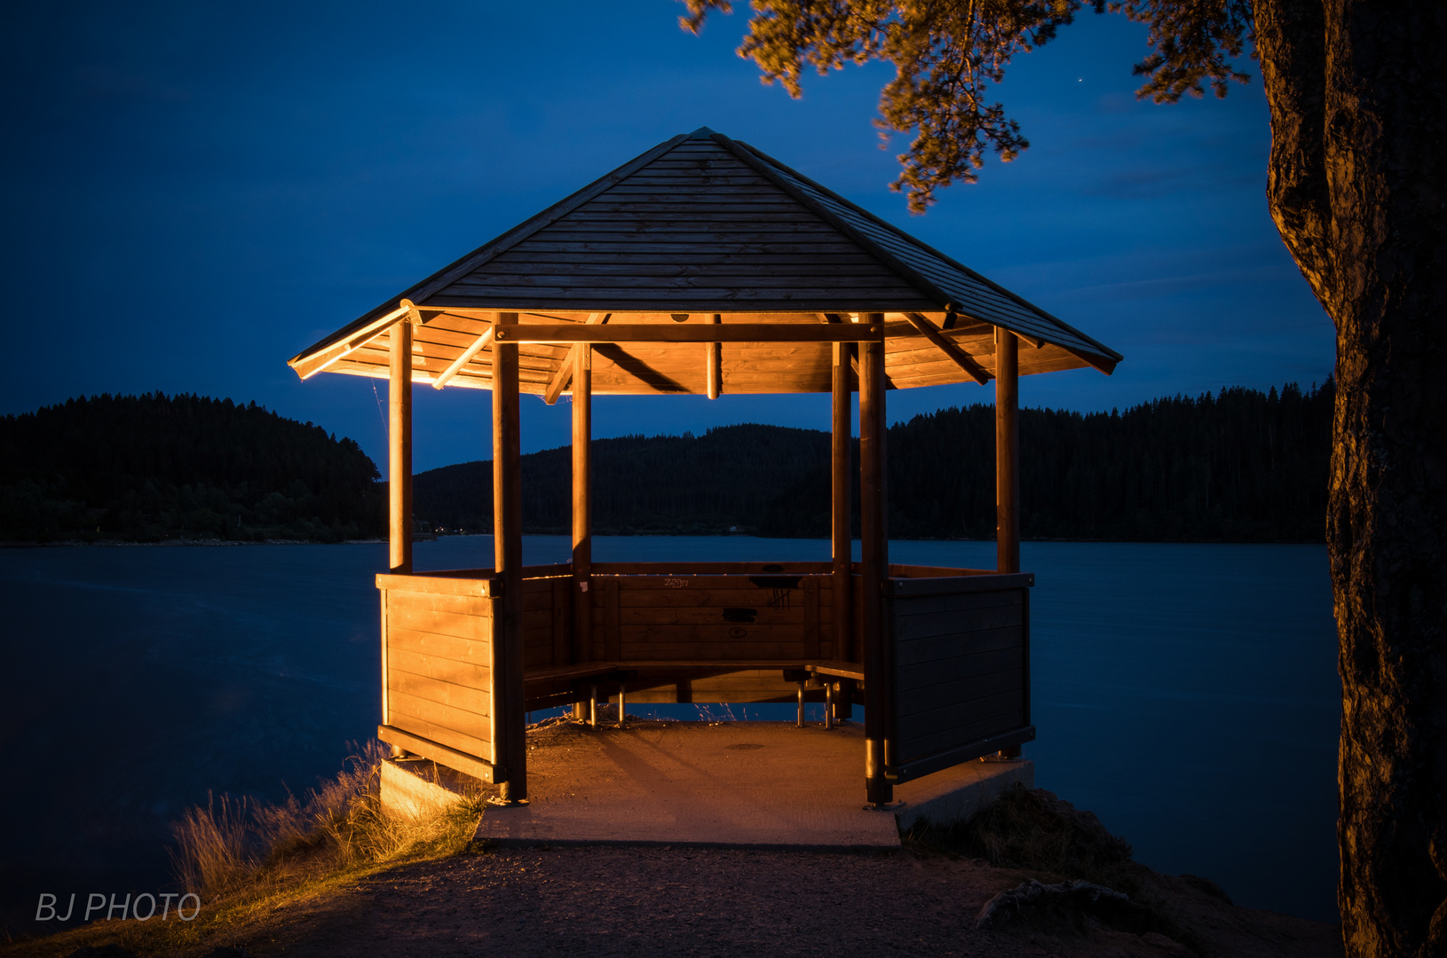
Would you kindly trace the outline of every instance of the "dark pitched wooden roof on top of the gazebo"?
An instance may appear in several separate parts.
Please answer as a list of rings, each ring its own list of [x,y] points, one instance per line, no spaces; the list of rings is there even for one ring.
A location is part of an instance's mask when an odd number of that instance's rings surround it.
[[[984,344],[988,327],[1010,329],[1043,350],[1022,355],[1022,373],[1085,363],[1108,373],[1121,358],[797,171],[708,127],[655,146],[508,230],[304,351],[292,366],[355,340],[395,314],[402,299],[423,309],[553,316],[686,312],[768,321],[767,314],[919,312],[943,321],[955,314],[952,338],[977,355],[993,348]],[[449,347],[437,345],[443,361]],[[941,357],[917,345],[904,351],[919,351],[920,376],[913,377],[919,381],[906,381],[912,376],[901,368],[900,384],[959,380],[948,360],[936,371],[926,368]],[[891,351],[903,355],[900,348]],[[336,371],[363,371],[352,367],[366,366],[365,360],[349,354]]]

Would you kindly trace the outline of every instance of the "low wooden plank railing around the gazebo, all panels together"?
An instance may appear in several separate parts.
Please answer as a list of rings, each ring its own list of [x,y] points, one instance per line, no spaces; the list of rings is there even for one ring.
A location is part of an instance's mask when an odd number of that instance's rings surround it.
[[[805,676],[867,676],[860,571],[851,621],[836,621],[828,562],[528,566],[517,597],[492,569],[379,575],[379,737],[483,780],[505,776],[501,709],[586,701],[598,685],[635,702],[792,701]],[[1030,575],[890,566],[884,618],[888,764],[899,780],[1033,738]],[[574,603],[586,585],[587,598]],[[524,701],[502,701],[493,623],[519,603]],[[586,623],[574,621],[585,610]],[[810,696],[822,698],[812,682]],[[512,757],[517,763],[525,756]]]

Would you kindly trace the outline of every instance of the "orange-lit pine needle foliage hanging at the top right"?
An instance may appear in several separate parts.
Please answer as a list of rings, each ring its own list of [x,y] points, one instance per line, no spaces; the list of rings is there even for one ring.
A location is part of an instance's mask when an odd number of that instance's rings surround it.
[[[734,9],[731,0],[684,3],[679,23],[693,33]],[[1255,40],[1247,0],[754,0],[738,55],[796,98],[810,66],[894,66],[874,124],[886,147],[896,133],[913,134],[891,189],[906,194],[910,212],[925,212],[938,188],[975,182],[987,153],[1009,163],[1029,149],[991,88],[1010,61],[1055,39],[1087,6],[1149,25],[1152,52],[1134,66],[1145,77],[1139,97],[1175,103],[1205,85],[1224,97],[1229,81],[1247,79],[1231,65]]]

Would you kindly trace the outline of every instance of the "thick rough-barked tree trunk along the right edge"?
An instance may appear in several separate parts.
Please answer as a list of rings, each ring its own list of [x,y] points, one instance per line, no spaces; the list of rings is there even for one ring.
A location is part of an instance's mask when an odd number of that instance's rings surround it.
[[[1257,0],[1268,198],[1337,328],[1349,955],[1447,955],[1447,4]]]

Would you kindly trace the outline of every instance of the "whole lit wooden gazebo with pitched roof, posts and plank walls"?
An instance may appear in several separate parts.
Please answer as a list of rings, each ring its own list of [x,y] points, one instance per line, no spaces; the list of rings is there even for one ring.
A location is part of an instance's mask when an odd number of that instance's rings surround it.
[[[896,782],[1017,750],[1035,737],[1017,376],[1108,374],[1120,358],[745,143],[705,127],[655,146],[291,360],[302,379],[391,384],[379,737],[509,801],[527,798],[527,711],[586,702],[608,682],[684,702],[780,699],[797,685],[835,711],[862,695],[875,805]],[[990,379],[997,568],[890,565],[886,390]],[[493,568],[412,572],[415,383],[493,392]],[[569,564],[521,561],[524,392],[572,394]],[[833,394],[832,562],[592,561],[595,393],[802,392]]]

